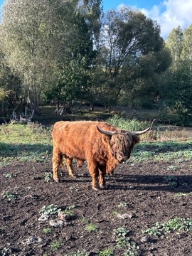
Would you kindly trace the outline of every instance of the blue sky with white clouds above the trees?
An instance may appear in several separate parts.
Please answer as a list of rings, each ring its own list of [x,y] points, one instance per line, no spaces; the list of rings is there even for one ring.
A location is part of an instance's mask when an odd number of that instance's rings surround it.
[[[5,0],[0,0],[0,6]],[[145,16],[161,26],[161,36],[166,40],[173,28],[185,29],[192,23],[192,0],[102,0],[104,11],[129,6],[139,9]]]

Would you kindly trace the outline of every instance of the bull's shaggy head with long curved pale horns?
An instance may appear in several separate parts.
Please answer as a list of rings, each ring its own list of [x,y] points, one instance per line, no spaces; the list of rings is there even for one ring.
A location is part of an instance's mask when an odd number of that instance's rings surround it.
[[[139,132],[129,132],[127,130],[118,129],[115,132],[111,132],[100,129],[98,126],[97,129],[102,134],[110,137],[112,154],[114,158],[119,161],[119,163],[122,163],[123,161],[127,161],[127,159],[129,159],[134,144],[137,144],[140,140],[139,135],[149,131],[150,127]]]

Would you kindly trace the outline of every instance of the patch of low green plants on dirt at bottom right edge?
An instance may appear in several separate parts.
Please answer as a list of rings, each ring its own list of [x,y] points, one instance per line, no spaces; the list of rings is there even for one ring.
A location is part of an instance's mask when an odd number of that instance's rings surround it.
[[[143,233],[161,236],[164,233],[171,233],[172,231],[191,233],[192,220],[190,218],[172,218],[164,223],[157,222],[154,227],[144,230]]]

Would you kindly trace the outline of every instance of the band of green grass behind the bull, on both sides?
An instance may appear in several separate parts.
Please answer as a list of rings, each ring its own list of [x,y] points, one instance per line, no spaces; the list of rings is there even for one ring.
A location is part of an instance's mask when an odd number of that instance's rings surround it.
[[[122,129],[138,131],[151,126],[151,122],[137,119],[127,121],[122,117],[110,117],[107,122]],[[52,127],[38,123],[3,124],[0,129],[0,166],[20,161],[47,161],[52,154]],[[134,158],[138,161],[147,159],[178,159],[183,156],[190,159],[191,133],[185,129],[173,127],[151,127],[151,131],[142,136],[142,143],[136,146]],[[140,151],[140,149],[144,149]],[[140,152],[140,153],[139,153]],[[142,153],[141,153],[142,152]],[[163,152],[163,153],[162,153]]]

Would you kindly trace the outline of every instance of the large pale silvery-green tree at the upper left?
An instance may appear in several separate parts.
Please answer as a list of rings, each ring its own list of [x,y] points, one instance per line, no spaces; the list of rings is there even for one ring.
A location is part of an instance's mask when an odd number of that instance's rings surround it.
[[[36,110],[44,88],[57,82],[58,63],[70,40],[68,17],[74,4],[61,0],[6,0],[4,4],[4,52],[23,82],[28,104]]]

